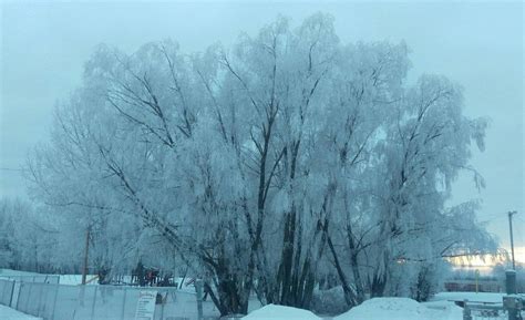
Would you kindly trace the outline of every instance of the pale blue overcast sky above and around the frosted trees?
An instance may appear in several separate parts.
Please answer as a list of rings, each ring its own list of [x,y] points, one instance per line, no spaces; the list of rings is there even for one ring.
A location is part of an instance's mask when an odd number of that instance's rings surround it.
[[[456,204],[483,200],[480,220],[508,244],[506,211],[516,215],[516,245],[525,247],[523,13],[514,3],[3,3],[1,7],[0,196],[25,196],[18,171],[44,143],[59,99],[80,84],[83,63],[104,42],[133,52],[172,38],[182,49],[226,45],[241,31],[255,34],[279,13],[297,25],[317,11],[336,18],[344,42],[404,40],[410,79],[440,73],[464,86],[465,113],[487,116],[486,151],[473,165],[487,187],[470,176],[454,185]],[[525,254],[524,254],[525,256]]]

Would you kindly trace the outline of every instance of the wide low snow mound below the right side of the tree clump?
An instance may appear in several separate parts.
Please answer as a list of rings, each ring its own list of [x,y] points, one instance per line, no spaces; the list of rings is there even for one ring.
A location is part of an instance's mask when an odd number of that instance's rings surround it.
[[[333,320],[461,320],[461,309],[452,303],[429,306],[409,298],[367,300]]]

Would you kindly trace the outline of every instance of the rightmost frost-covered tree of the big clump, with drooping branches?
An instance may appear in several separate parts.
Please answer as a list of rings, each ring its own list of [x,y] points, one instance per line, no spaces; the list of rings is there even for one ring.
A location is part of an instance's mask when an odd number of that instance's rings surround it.
[[[364,291],[408,295],[406,275],[423,286],[452,249],[494,249],[475,221],[475,207],[444,208],[451,182],[461,169],[472,169],[471,142],[483,148],[484,121],[462,115],[461,91],[444,78],[423,76],[415,87],[392,97],[387,106],[391,116],[383,117],[371,158],[362,174],[357,173],[356,179],[369,184],[353,184],[361,195],[353,194],[342,209],[354,215],[343,224],[339,240],[352,266],[350,281],[338,268],[349,304],[362,301]],[[392,279],[395,272],[402,272],[398,281]],[[405,289],[400,289],[401,280]]]

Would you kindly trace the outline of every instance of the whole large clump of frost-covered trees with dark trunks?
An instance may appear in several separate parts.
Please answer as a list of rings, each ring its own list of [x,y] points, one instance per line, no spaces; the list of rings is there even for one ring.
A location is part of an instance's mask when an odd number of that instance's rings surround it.
[[[101,266],[157,239],[222,314],[254,291],[309,308],[326,275],[349,306],[424,300],[442,257],[493,245],[475,205],[444,206],[460,171],[481,183],[486,124],[446,78],[409,85],[409,66],[404,43],[341,43],[321,13],[202,53],[101,45],[29,161],[33,195],[99,230]]]

